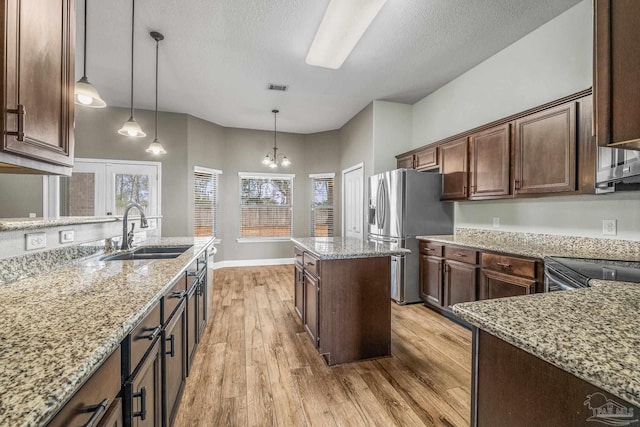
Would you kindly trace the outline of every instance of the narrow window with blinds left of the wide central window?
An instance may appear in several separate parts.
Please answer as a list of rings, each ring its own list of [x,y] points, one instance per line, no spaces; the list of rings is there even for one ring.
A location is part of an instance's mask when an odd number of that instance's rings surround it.
[[[199,166],[193,168],[193,235],[220,235],[218,177],[222,171]]]

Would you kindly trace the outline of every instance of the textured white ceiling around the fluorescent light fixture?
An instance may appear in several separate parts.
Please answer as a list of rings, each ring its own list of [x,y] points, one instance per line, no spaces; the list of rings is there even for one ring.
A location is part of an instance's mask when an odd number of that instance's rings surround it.
[[[129,106],[131,0],[88,2],[87,76]],[[328,0],[137,0],[136,108],[227,127],[314,133],[342,127],[374,99],[413,104],[580,0],[388,0],[342,68],[304,59]],[[76,75],[84,6],[77,2]],[[289,85],[287,92],[268,83]]]

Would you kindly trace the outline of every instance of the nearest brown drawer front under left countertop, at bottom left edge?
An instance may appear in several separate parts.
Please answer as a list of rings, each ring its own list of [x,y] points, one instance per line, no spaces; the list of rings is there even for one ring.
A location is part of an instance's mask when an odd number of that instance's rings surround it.
[[[48,427],[84,425],[92,416],[102,418],[120,392],[120,347],[58,412]],[[105,403],[106,400],[106,403]],[[88,408],[96,409],[88,411]],[[99,411],[99,413],[97,412]],[[95,425],[95,423],[94,423]]]

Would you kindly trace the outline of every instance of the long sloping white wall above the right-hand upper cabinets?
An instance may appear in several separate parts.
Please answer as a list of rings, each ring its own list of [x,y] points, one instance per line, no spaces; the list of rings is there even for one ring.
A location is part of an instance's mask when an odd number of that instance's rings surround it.
[[[413,148],[591,87],[592,14],[584,0],[418,101]]]

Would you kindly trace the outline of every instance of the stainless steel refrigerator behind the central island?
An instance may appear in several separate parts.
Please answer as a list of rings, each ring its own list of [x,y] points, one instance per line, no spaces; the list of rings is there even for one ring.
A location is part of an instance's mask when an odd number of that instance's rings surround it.
[[[397,243],[410,255],[391,258],[391,298],[419,302],[419,245],[416,236],[452,234],[453,204],[441,202],[442,175],[396,169],[369,177],[368,239]]]

